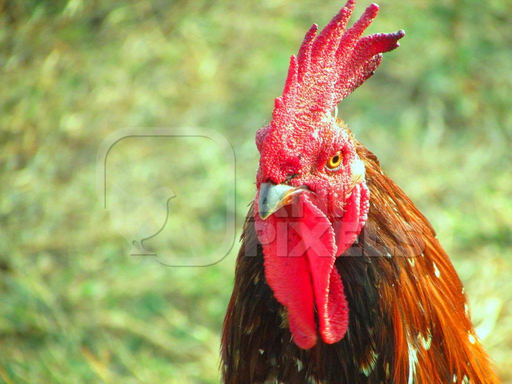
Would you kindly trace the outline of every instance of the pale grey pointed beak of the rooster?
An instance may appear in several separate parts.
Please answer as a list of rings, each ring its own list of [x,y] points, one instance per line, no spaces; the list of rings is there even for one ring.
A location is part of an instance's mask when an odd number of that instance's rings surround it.
[[[258,200],[260,217],[265,220],[279,208],[290,204],[293,196],[300,194],[306,189],[307,187],[304,185],[292,187],[286,184],[262,183],[260,186],[260,199]]]

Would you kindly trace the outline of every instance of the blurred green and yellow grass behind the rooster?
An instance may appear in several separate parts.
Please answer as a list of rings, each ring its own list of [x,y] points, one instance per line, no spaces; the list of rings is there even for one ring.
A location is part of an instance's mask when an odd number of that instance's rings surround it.
[[[368,32],[407,35],[339,115],[438,231],[478,334],[512,383],[512,3],[379,5]],[[0,1],[0,382],[219,381],[238,242],[203,268],[130,255],[96,195],[98,147],[127,126],[223,134],[237,160],[238,236],[255,193],[254,133],[281,94],[289,55],[342,6]],[[170,172],[182,194],[195,191],[194,209],[170,214],[177,232],[160,245],[181,244],[185,259],[215,248],[231,209],[226,164],[201,145],[118,152],[135,164],[127,180],[135,169],[135,185],[149,187],[142,195]]]

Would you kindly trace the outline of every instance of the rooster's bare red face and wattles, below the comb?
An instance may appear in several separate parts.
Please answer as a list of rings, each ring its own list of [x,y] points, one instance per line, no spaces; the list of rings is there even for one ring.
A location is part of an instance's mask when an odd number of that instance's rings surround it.
[[[325,343],[337,342],[347,331],[348,303],[334,261],[353,244],[369,208],[365,181],[351,184],[351,164],[358,160],[352,138],[332,123],[319,131],[313,136],[324,140],[308,137],[305,145],[288,146],[276,157],[273,147],[264,145],[262,159],[279,161],[271,167],[261,161],[257,179],[259,187],[262,182],[279,184],[295,174],[288,183],[309,189],[267,220],[260,218],[258,209],[255,212],[267,282],[288,310],[295,344],[305,349],[317,341],[314,306]],[[337,170],[326,168],[337,152],[342,153],[342,165]],[[302,154],[300,159],[297,153]]]

